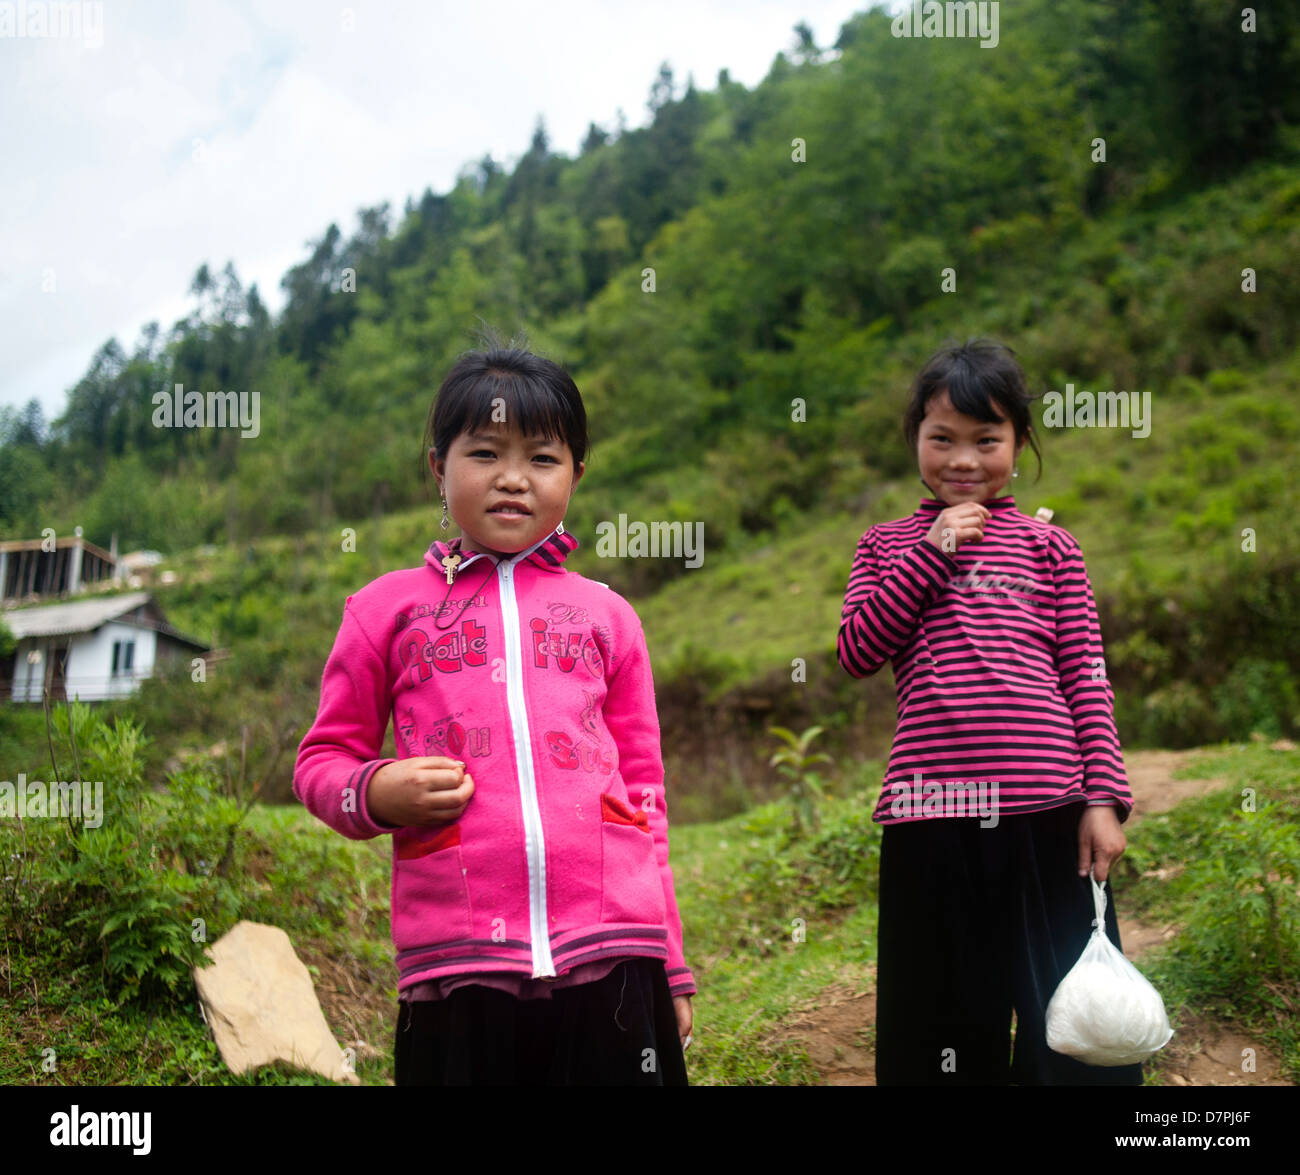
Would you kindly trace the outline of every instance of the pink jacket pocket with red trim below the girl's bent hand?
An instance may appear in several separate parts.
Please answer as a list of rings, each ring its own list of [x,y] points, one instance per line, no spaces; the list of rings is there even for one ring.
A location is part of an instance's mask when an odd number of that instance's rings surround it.
[[[460,824],[430,831],[404,828],[393,834],[393,925],[419,928],[417,942],[425,946],[468,938],[473,925],[469,884],[460,853]],[[403,935],[402,937],[408,937]],[[396,937],[396,936],[394,936]]]

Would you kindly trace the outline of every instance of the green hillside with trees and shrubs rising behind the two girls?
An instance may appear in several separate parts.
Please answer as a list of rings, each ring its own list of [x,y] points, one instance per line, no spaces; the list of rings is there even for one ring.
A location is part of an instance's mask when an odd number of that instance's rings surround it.
[[[888,728],[889,682],[835,665],[838,603],[862,530],[922,493],[911,374],[987,334],[1037,391],[1150,395],[1148,437],[1041,429],[1043,477],[1022,463],[1015,486],[1083,545],[1126,743],[1294,734],[1300,12],[1242,19],[1018,0],[988,51],[871,10],[833,47],[797,30],[753,90],[666,65],[645,129],[593,125],[569,159],[538,123],[514,166],[328,226],[277,318],[231,264],[199,268],[190,316],[105,343],[62,416],[0,419],[3,533],[173,556],[162,606],[233,650],[229,676],[133,706],[157,754],[260,723],[269,766],[311,719],[343,597],[437,533],[420,438],[442,374],[480,322],[524,330],[588,403],[576,567],[636,600],[703,814],[740,806],[774,717],[849,745]],[[260,393],[260,434],[155,428],[177,383]],[[703,567],[597,559],[620,512],[702,523]],[[702,710],[716,746],[673,760]]]

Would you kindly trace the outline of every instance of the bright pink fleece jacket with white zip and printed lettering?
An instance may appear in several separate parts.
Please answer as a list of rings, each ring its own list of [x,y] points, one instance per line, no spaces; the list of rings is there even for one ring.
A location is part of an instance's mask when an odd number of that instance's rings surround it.
[[[436,542],[424,567],[347,598],[298,750],[294,794],[354,840],[393,836],[398,988],[473,972],[560,976],[681,946],[654,681],[641,621],[563,567],[551,533],[507,560]],[[443,559],[460,556],[454,584]],[[393,827],[367,808],[389,719],[400,758],[473,776],[454,824]]]

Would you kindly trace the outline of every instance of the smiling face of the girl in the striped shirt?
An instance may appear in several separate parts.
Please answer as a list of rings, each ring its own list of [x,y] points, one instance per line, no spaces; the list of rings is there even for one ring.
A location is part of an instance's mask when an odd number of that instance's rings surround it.
[[[1011,469],[1023,447],[1024,441],[1015,443],[1010,420],[1004,416],[994,424],[985,424],[966,416],[953,408],[944,387],[926,404],[926,417],[916,435],[920,480],[948,506],[985,502],[996,498],[1011,480]]]

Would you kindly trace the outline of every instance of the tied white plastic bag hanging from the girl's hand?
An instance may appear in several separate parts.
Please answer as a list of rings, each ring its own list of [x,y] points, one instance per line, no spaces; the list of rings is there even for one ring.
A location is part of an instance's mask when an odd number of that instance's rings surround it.
[[[1048,1048],[1084,1065],[1136,1065],[1174,1029],[1160,992],[1106,937],[1106,892],[1096,877],[1092,902],[1092,937],[1048,1003]]]

